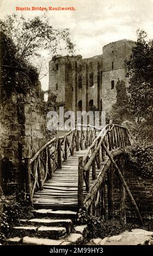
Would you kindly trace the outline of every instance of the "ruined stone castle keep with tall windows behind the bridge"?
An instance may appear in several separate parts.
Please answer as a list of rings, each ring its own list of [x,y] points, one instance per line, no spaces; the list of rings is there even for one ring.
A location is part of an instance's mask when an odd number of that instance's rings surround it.
[[[108,111],[116,101],[115,85],[118,79],[128,86],[125,60],[130,58],[134,41],[120,40],[103,47],[103,54],[82,59],[82,56],[65,56],[49,62],[49,96],[57,95],[57,102],[65,102],[65,110],[77,111],[79,103],[82,110],[93,105]],[[93,81],[91,78],[93,74]],[[82,86],[79,84],[82,80]],[[112,81],[114,88],[112,87]],[[79,88],[81,87],[81,88]],[[92,102],[91,102],[92,104]]]

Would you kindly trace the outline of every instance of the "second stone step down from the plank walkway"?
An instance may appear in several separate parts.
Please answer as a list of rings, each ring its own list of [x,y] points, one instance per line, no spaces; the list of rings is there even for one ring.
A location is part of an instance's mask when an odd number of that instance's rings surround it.
[[[70,233],[72,221],[70,219],[53,220],[51,218],[33,218],[32,220],[20,220],[21,224],[47,226],[47,227],[65,227],[66,233]]]

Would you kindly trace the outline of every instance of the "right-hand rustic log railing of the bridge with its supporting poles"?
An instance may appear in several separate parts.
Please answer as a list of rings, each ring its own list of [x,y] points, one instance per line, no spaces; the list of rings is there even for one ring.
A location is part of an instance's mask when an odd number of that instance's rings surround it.
[[[87,150],[87,154],[84,157],[79,157],[78,209],[85,207],[91,215],[97,217],[106,217],[107,211],[108,217],[112,218],[114,215],[113,185],[114,174],[116,173],[120,181],[121,221],[126,223],[126,191],[142,223],[142,217],[140,216],[137,204],[124,179],[125,161],[123,148],[132,143],[134,143],[134,138],[125,127],[110,123],[94,139]],[[102,164],[104,161],[105,163]],[[97,177],[96,168],[100,170]],[[83,192],[84,182],[87,194]]]

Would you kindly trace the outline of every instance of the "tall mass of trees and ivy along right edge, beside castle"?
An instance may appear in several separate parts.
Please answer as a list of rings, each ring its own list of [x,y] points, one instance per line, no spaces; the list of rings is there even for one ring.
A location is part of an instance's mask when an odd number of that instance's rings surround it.
[[[137,144],[126,149],[128,166],[143,178],[153,178],[153,44],[144,31],[137,31],[136,46],[127,62],[129,87],[118,81],[117,102],[109,119],[123,124]],[[128,94],[127,94],[128,93]]]

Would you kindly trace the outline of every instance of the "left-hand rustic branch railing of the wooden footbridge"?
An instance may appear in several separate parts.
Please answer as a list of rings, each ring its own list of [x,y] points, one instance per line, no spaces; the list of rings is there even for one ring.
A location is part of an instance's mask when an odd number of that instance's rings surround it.
[[[79,126],[64,136],[51,139],[31,159],[25,158],[26,193],[31,204],[34,192],[43,190],[45,181],[52,179],[55,170],[62,168],[62,163],[74,155],[75,149],[88,148],[98,131],[101,130],[90,125],[86,129]]]

